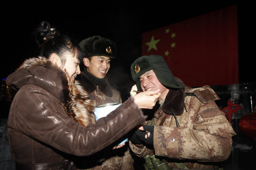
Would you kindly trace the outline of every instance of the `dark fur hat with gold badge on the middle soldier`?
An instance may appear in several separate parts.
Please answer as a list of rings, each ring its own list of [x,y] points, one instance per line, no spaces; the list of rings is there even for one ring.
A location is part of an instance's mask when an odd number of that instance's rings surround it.
[[[91,56],[116,57],[116,43],[98,35],[82,40],[79,43],[83,58]]]

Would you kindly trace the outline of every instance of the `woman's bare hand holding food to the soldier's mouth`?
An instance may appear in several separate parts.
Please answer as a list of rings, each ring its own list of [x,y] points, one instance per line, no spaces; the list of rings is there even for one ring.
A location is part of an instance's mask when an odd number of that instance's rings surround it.
[[[144,91],[134,96],[134,102],[140,109],[152,109],[161,96],[160,89]]]

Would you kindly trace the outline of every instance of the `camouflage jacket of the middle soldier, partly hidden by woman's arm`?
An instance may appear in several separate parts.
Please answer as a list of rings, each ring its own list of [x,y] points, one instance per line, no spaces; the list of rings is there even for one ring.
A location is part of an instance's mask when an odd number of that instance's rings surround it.
[[[79,81],[84,89],[88,92],[90,99],[94,100],[94,106],[103,105],[111,102],[122,103],[119,91],[111,87],[108,79],[99,85],[95,85],[88,79],[86,74],[81,72],[79,75]],[[92,122],[95,122],[95,116],[91,116]],[[116,144],[116,143],[115,143]],[[113,149],[114,144],[108,148],[105,148],[100,153],[90,156],[90,165],[84,166],[82,159],[77,167],[86,170],[134,170],[133,159],[131,157],[128,143],[119,149]]]

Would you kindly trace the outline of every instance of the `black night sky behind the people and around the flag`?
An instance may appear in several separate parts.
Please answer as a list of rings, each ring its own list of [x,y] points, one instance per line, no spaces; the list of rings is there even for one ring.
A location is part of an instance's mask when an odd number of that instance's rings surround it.
[[[1,78],[12,73],[24,59],[37,55],[37,44],[31,33],[41,21],[67,33],[78,42],[84,38],[100,35],[116,42],[117,56],[111,62],[108,77],[119,91],[129,92],[134,84],[129,69],[131,63],[141,55],[141,34],[163,26],[177,23],[201,14],[231,5],[238,5],[239,26],[239,83],[256,82],[256,5],[241,0],[205,1],[107,1],[105,3],[79,3],[54,6],[52,3],[32,7],[31,4],[9,4],[1,10],[3,51]],[[140,2],[140,3],[138,3]],[[47,4],[46,4],[47,3]],[[23,7],[21,7],[23,6]],[[24,7],[25,6],[25,7]],[[6,41],[7,40],[7,41]],[[255,59],[254,59],[255,60]],[[250,77],[253,76],[254,77]],[[118,77],[118,78],[116,78]],[[126,83],[124,83],[126,82]],[[127,86],[124,86],[126,84]],[[124,94],[125,96],[126,94]]]

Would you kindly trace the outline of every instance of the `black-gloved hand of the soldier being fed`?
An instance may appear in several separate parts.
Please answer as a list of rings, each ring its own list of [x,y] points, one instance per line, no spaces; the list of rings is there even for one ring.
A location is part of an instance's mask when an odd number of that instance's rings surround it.
[[[150,132],[150,135],[148,135],[148,132]],[[137,139],[139,139],[142,143],[150,145],[154,144],[154,126],[143,125],[143,130],[136,130],[135,134]]]

